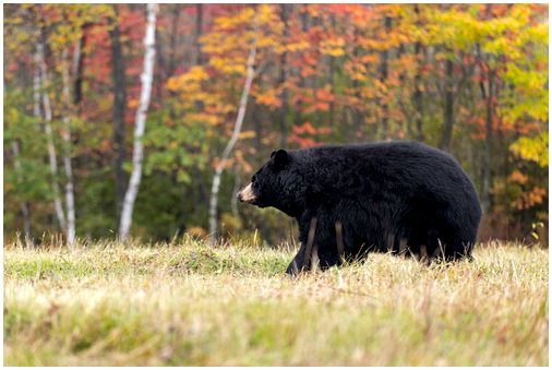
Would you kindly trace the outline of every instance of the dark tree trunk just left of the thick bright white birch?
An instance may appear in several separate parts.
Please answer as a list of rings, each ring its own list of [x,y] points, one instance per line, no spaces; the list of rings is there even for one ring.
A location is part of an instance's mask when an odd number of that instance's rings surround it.
[[[111,80],[113,81],[113,151],[115,151],[115,193],[117,202],[117,219],[121,217],[122,202],[127,191],[127,174],[124,164],[124,114],[127,111],[127,76],[124,73],[124,55],[122,52],[121,33],[117,19],[117,5],[113,5],[116,15],[109,20],[111,29]]]

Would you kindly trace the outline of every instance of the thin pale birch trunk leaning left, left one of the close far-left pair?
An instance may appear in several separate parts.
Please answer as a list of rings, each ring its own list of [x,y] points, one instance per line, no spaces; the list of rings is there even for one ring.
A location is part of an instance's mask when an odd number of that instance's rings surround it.
[[[44,57],[44,46],[36,44],[35,62],[39,70],[39,85],[41,85],[41,99],[44,106],[44,126],[48,144],[48,158],[50,162],[50,172],[52,176],[53,207],[58,217],[59,226],[63,232],[67,232],[65,214],[60,199],[60,190],[58,184],[58,160],[56,157],[56,146],[53,145],[53,134],[51,130],[51,105],[47,92],[48,76],[46,72],[46,61]]]

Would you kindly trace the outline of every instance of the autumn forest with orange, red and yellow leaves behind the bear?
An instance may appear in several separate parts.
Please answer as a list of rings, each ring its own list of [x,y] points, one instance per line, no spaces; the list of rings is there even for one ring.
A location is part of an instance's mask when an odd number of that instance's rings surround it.
[[[280,147],[416,140],[548,242],[548,4],[4,4],[4,239],[277,244]]]

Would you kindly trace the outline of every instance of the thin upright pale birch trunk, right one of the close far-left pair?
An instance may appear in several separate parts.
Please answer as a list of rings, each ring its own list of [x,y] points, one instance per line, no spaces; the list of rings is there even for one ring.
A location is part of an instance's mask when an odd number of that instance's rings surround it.
[[[71,97],[69,95],[69,62],[68,51],[63,50],[63,71],[62,71],[62,84],[63,84],[63,130],[61,138],[63,139],[63,167],[65,169],[65,206],[67,206],[67,238],[68,243],[72,248],[74,247],[75,240],[75,202],[74,202],[74,186],[73,186],[73,169],[71,168],[71,119],[70,107]]]

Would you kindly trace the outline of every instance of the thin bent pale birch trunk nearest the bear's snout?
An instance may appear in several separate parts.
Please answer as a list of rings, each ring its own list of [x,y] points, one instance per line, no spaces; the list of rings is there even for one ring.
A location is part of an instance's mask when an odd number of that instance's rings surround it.
[[[243,84],[243,91],[241,93],[240,107],[238,110],[238,116],[236,117],[236,122],[233,126],[233,132],[230,138],[228,144],[223,152],[223,156],[220,162],[215,168],[215,176],[213,177],[213,186],[211,188],[211,202],[209,202],[209,243],[213,246],[217,240],[217,207],[218,207],[218,191],[220,189],[220,177],[223,175],[223,170],[226,167],[226,162],[228,160],[228,156],[232,151],[233,146],[238,142],[239,134],[241,132],[241,127],[243,124],[243,118],[245,117],[245,109],[248,106],[249,92],[251,89],[251,83],[253,82],[253,77],[255,76],[255,71],[253,65],[255,63],[256,56],[256,45],[251,47],[248,58],[248,68],[245,75],[245,83]]]

